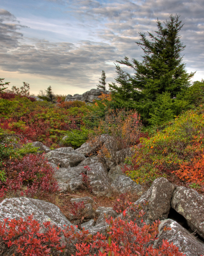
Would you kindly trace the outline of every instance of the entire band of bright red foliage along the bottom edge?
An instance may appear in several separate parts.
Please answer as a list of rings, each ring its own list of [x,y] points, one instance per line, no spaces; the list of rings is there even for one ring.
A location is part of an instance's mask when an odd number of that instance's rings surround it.
[[[141,213],[142,216],[143,213]],[[128,215],[123,211],[123,217]],[[163,240],[159,249],[152,247],[158,235],[160,221],[151,226],[142,222],[139,227],[133,221],[122,220],[120,217],[106,218],[107,236],[97,233],[92,236],[84,228],[76,230],[77,226],[64,229],[50,224],[50,221],[40,223],[28,216],[25,220],[8,220],[0,222],[0,255],[14,256],[57,256],[67,255],[67,247],[76,250],[72,256],[185,256],[178,247]],[[164,230],[171,228],[164,227]],[[62,241],[64,235],[65,243]],[[6,254],[7,253],[7,254]],[[203,255],[201,255],[203,256]]]

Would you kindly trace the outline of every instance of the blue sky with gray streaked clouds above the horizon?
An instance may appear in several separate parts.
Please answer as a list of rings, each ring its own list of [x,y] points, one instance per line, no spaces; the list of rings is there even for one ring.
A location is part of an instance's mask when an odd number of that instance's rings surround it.
[[[55,94],[73,95],[97,88],[104,70],[108,89],[117,60],[142,60],[139,32],[156,35],[157,18],[171,14],[184,23],[186,70],[200,81],[203,0],[0,0],[0,78],[9,89],[26,82],[35,95],[50,85]]]

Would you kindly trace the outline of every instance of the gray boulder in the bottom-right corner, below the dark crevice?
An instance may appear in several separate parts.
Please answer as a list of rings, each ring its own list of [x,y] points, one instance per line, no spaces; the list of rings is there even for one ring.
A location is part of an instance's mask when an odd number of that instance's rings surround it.
[[[171,230],[164,230],[164,227]],[[200,256],[204,252],[204,244],[195,238],[188,230],[183,228],[174,220],[162,220],[159,225],[159,234],[154,242],[154,248],[159,249],[162,240],[168,240],[179,248],[179,252],[184,252],[186,256]]]

